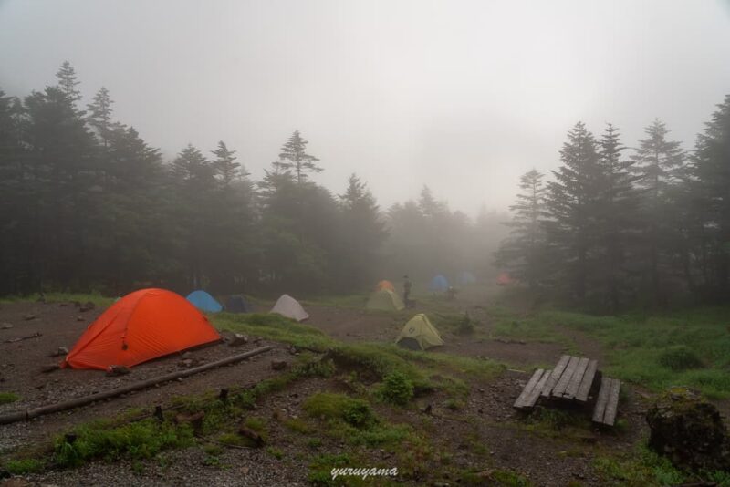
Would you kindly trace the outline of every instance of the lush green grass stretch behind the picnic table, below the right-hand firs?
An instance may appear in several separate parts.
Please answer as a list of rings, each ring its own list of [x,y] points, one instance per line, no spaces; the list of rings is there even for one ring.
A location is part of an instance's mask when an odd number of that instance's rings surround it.
[[[711,399],[730,398],[730,308],[698,307],[647,316],[590,316],[542,311],[517,316],[504,308],[495,314],[495,334],[520,339],[568,340],[561,328],[578,330],[606,350],[603,371],[653,391],[671,386],[699,389]]]

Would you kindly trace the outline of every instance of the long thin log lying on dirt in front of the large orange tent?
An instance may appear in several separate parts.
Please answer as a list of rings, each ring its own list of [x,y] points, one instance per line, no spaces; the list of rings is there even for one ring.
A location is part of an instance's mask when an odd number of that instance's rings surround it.
[[[11,412],[9,414],[4,414],[4,415],[0,416],[0,424],[9,424],[9,423],[14,423],[16,421],[31,420],[33,418],[37,418],[38,416],[43,416],[44,414],[51,414],[51,413],[58,412],[58,411],[65,411],[68,409],[79,408],[81,406],[86,406],[87,404],[91,404],[92,402],[96,402],[98,400],[115,398],[117,396],[126,394],[133,390],[151,388],[152,386],[154,386],[156,384],[161,384],[162,382],[168,382],[168,381],[174,380],[176,378],[189,377],[189,376],[192,376],[193,374],[197,374],[199,372],[204,372],[205,370],[210,370],[211,368],[217,368],[217,367],[223,367],[223,366],[229,365],[229,364],[235,364],[236,362],[245,360],[248,357],[254,357],[255,355],[259,355],[264,352],[267,352],[267,351],[271,350],[271,348],[272,347],[270,347],[270,346],[256,348],[255,350],[251,350],[250,352],[238,354],[233,357],[223,358],[221,360],[217,360],[215,362],[211,362],[209,364],[205,364],[205,365],[202,365],[199,367],[188,368],[185,370],[181,370],[179,372],[172,372],[170,374],[165,374],[164,376],[160,376],[160,377],[156,377],[156,378],[148,378],[147,380],[141,380],[140,382],[135,382],[133,384],[129,384],[127,386],[123,386],[123,387],[120,387],[117,389],[111,389],[111,390],[106,390],[103,392],[98,392],[96,394],[91,394],[90,396],[84,396],[83,398],[71,399],[71,400],[68,400],[65,402],[60,402],[58,404],[52,404],[49,406],[41,406],[40,408],[36,408],[36,409],[26,409],[25,411]]]

